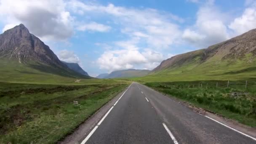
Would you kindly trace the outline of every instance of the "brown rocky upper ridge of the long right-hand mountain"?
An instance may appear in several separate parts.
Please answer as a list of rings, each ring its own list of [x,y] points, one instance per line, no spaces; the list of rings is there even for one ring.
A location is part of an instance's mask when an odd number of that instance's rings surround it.
[[[224,42],[211,45],[205,49],[190,51],[165,59],[152,70],[152,73],[164,69],[175,69],[192,62],[197,65],[213,61],[236,62],[249,54],[252,55],[251,59],[254,59],[256,56],[256,46],[254,45],[256,45],[256,29],[252,29]]]

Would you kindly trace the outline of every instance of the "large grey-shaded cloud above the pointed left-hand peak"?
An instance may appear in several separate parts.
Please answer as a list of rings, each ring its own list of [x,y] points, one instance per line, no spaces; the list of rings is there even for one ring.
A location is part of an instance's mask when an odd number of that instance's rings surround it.
[[[38,37],[67,39],[73,33],[73,18],[65,5],[62,0],[0,0],[3,30],[23,23]]]

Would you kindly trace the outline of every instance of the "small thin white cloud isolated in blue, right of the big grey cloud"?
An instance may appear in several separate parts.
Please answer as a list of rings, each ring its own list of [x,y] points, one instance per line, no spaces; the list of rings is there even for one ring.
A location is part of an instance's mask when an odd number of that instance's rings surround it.
[[[80,26],[77,27],[77,29],[80,31],[107,32],[111,29],[111,27],[104,24],[99,24],[93,21],[87,24],[81,24]]]

